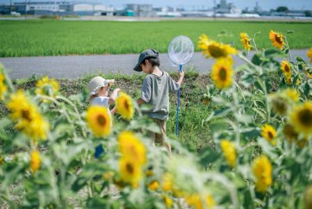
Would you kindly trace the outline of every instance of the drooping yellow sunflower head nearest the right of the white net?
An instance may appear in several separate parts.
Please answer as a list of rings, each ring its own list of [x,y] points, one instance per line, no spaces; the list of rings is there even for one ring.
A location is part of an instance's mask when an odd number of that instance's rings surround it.
[[[218,43],[213,40],[209,40],[207,35],[202,34],[198,41],[198,47],[202,49],[202,53],[206,58],[229,58],[230,54],[236,54],[237,51],[228,44]]]

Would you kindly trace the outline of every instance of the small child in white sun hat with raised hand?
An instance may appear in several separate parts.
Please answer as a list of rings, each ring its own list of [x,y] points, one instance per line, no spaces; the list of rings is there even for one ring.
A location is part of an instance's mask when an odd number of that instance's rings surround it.
[[[89,103],[91,106],[105,106],[110,108],[110,105],[116,101],[120,88],[116,88],[110,97],[108,97],[108,91],[110,90],[110,86],[114,84],[114,79],[106,80],[101,76],[96,76],[89,81],[88,89],[89,89]],[[116,108],[112,108],[110,110],[112,114],[116,112]]]

